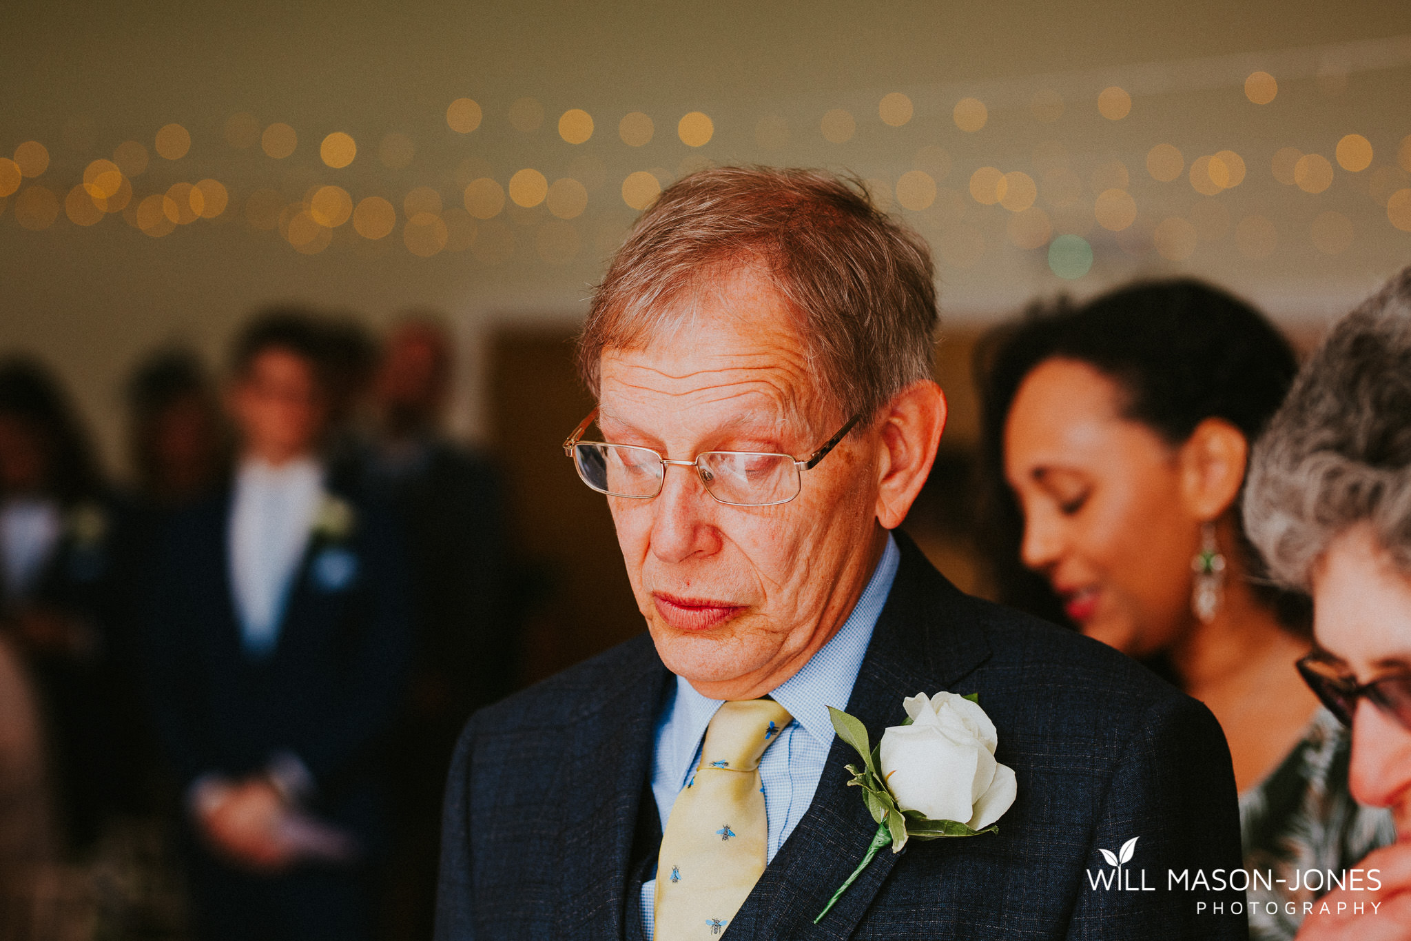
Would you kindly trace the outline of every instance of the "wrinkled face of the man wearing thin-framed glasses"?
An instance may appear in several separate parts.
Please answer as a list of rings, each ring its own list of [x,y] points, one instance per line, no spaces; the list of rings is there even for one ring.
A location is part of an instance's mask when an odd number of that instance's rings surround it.
[[[689,326],[601,358],[605,440],[672,460],[804,457],[848,416],[820,401],[783,299],[751,269],[704,291]],[[690,467],[653,499],[608,498],[638,607],[666,666],[713,698],[752,698],[837,631],[880,553],[880,437],[856,427],[777,506],[715,502]]]

